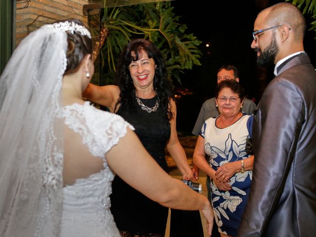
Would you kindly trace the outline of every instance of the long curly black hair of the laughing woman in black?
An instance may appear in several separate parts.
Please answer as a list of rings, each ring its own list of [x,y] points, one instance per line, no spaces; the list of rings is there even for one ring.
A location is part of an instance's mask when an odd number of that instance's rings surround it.
[[[133,101],[136,99],[136,88],[130,76],[129,65],[142,56],[144,50],[149,58],[153,58],[156,64],[154,89],[158,96],[159,106],[163,108],[165,115],[170,120],[173,117],[171,110],[168,110],[170,98],[173,98],[172,86],[168,80],[164,58],[159,49],[149,40],[131,40],[123,49],[119,59],[115,83],[120,89],[118,104],[124,109],[132,111],[135,109]],[[116,105],[116,106],[117,106]],[[171,106],[171,105],[170,105]],[[171,107],[170,107],[171,108]]]

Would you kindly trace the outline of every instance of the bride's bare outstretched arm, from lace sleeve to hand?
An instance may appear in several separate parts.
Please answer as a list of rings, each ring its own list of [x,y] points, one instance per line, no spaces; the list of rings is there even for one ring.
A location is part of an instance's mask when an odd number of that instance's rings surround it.
[[[109,166],[126,183],[161,205],[201,210],[211,234],[213,211],[207,198],[168,175],[129,128],[119,143],[106,154],[106,158]]]

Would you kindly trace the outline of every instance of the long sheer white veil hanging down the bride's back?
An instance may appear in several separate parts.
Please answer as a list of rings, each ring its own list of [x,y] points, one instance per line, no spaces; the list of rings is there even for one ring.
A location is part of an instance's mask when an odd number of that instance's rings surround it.
[[[58,236],[62,214],[61,85],[67,34],[42,26],[0,77],[0,236]]]

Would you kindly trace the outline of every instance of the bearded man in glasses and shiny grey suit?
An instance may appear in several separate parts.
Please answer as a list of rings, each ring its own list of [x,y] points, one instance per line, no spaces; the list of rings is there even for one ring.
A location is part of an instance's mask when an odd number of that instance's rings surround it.
[[[254,167],[238,237],[316,235],[316,71],[304,16],[290,3],[261,11],[251,47],[274,63],[253,123]]]

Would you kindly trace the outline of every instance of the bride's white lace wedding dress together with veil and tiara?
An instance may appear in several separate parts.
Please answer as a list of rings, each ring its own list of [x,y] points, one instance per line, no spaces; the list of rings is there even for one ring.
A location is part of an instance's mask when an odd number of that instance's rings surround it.
[[[75,34],[90,38],[76,22],[40,27],[19,43],[0,75],[0,237],[119,237],[106,157],[133,127],[89,102],[62,107],[68,37]],[[67,187],[65,124],[104,163],[104,170]]]

